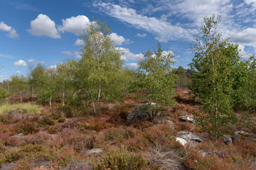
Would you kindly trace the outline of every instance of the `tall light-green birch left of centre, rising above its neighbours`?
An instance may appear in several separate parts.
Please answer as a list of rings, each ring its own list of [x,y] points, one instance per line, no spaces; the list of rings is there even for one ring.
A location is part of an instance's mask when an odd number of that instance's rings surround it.
[[[90,23],[80,40],[85,45],[80,49],[82,59],[78,62],[76,81],[80,94],[92,102],[97,114],[100,101],[122,99],[122,51],[114,47],[110,38],[110,28],[100,21]]]

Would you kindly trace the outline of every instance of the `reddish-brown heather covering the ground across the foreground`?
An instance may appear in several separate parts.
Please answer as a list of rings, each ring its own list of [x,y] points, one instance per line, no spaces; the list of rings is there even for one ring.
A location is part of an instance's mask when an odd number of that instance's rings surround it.
[[[52,109],[44,107],[42,115],[21,119],[0,115],[1,166],[14,164],[13,169],[41,170],[255,169],[255,142],[242,140],[225,145],[220,139],[195,147],[176,142],[181,130],[208,137],[193,123],[178,120],[181,115],[201,111],[189,91],[176,91],[177,106],[161,108],[162,114],[153,122],[126,120],[138,105],[132,95],[122,104],[102,103],[98,115],[87,110],[75,116],[58,103]],[[242,125],[238,123],[234,130]],[[254,125],[245,128],[255,132]]]

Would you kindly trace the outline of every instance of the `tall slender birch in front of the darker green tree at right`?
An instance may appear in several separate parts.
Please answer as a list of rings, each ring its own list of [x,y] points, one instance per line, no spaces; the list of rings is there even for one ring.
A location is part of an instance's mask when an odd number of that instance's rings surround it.
[[[223,40],[217,33],[219,22],[219,16],[204,18],[202,35],[195,37],[192,49],[195,57],[190,64],[197,71],[192,76],[191,90],[200,98],[206,114],[198,117],[198,123],[214,140],[222,133],[222,128],[235,120],[232,108],[233,55],[227,55],[230,50],[228,40]]]

